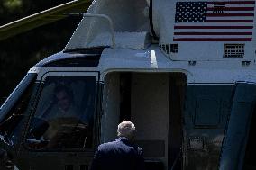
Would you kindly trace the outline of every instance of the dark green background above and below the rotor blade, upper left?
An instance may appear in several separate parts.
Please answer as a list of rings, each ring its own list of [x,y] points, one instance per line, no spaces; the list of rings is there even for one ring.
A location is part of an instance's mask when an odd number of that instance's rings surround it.
[[[0,0],[0,25],[14,22],[70,0]],[[62,50],[81,18],[69,17],[0,41],[0,103],[27,71]]]

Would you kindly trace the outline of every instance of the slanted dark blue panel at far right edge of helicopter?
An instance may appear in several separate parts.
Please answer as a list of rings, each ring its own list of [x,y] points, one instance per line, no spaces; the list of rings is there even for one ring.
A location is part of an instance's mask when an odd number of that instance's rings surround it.
[[[233,94],[233,105],[220,159],[220,170],[224,169],[255,169],[254,134],[256,85],[238,83]],[[250,130],[251,129],[251,130]],[[255,138],[254,138],[255,139]],[[252,145],[251,145],[252,144]],[[255,150],[255,149],[254,149]]]

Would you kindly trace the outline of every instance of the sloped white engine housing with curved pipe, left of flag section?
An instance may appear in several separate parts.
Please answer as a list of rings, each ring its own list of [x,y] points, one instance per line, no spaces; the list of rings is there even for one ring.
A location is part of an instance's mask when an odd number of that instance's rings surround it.
[[[145,49],[151,41],[147,10],[145,0],[96,0],[65,50],[99,46]]]

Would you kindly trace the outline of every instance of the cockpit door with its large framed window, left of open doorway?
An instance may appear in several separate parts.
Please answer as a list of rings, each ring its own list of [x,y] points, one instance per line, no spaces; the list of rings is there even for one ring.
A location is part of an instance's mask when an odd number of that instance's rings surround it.
[[[97,72],[48,72],[24,137],[21,156],[33,170],[87,170],[97,144]]]

